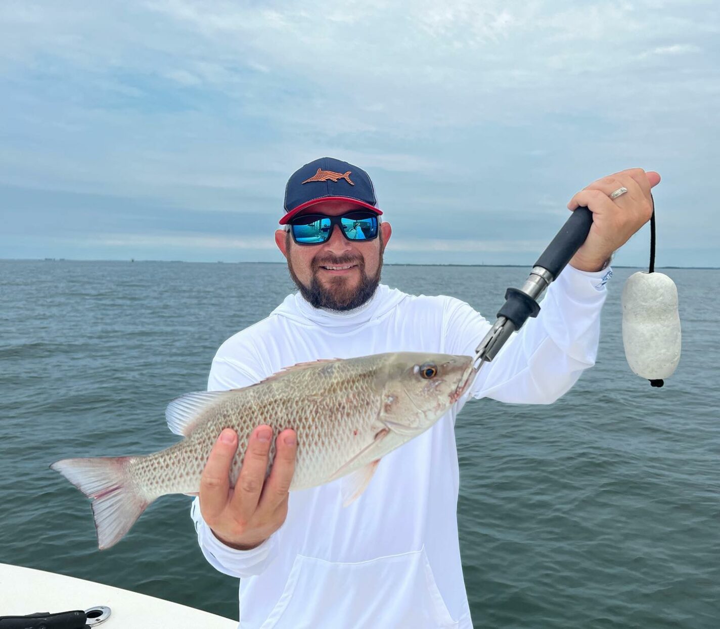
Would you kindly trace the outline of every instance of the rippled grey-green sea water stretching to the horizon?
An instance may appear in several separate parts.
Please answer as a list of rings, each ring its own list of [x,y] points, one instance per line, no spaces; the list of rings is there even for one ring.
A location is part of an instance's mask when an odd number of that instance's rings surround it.
[[[387,266],[383,281],[494,320],[527,272]],[[683,355],[662,389],[624,358],[632,272],[608,284],[597,365],[571,392],[548,406],[470,402],[459,416],[476,627],[720,627],[720,271],[667,271]],[[188,497],[158,500],[99,552],[89,502],[48,465],[173,443],[167,402],[204,389],[220,343],[291,289],[282,265],[0,261],[0,561],[237,618],[237,582],[204,561]]]

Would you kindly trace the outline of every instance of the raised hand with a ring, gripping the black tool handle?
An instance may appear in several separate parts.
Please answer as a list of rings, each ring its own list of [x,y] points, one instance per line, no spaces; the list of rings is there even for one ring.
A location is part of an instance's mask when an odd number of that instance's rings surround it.
[[[593,226],[570,264],[580,271],[599,271],[603,268],[611,255],[650,220],[650,189],[659,183],[660,175],[654,171],[628,168],[593,181],[575,194],[567,204],[568,209],[588,207],[593,212]],[[610,194],[618,188],[627,188],[628,191],[611,199]]]

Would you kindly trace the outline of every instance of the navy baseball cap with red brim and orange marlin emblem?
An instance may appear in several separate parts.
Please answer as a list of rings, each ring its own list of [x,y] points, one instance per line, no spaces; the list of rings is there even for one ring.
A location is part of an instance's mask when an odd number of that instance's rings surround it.
[[[382,214],[372,181],[362,168],[335,158],[320,158],[298,168],[287,180],[285,215],[280,225],[322,201],[351,201]]]

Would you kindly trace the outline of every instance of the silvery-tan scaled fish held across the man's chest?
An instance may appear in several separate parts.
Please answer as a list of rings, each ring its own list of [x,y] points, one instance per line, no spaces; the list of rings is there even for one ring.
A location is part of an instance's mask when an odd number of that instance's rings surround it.
[[[183,439],[147,455],[66,458],[50,468],[92,499],[98,548],[114,546],[150,503],[165,494],[199,494],[212,446],[238,433],[230,487],[253,430],[292,428],[297,451],[290,491],[341,481],[343,506],[365,490],[379,460],[428,430],[464,394],[471,356],[397,352],[298,363],[230,391],[172,400],[166,420]],[[274,461],[271,440],[269,474]]]

